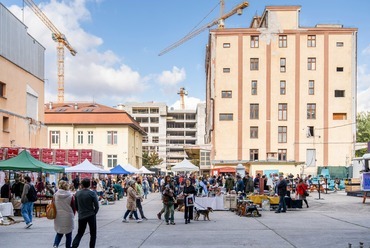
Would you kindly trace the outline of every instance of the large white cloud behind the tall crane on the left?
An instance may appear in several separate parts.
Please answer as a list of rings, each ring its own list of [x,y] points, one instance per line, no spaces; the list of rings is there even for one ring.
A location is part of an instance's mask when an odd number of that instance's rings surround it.
[[[91,21],[86,2],[87,0],[51,0],[38,5],[77,50],[77,55],[72,56],[67,48],[64,49],[65,101],[95,100],[113,103],[112,101],[121,102],[125,97],[145,91],[149,76],[142,76],[130,66],[121,63],[121,59],[113,51],[99,51],[103,39],[82,29],[83,22]],[[51,31],[29,8],[25,8],[24,14],[18,6],[9,9],[20,20],[24,20],[28,33],[46,48],[45,101],[56,101],[57,43],[52,40]]]

